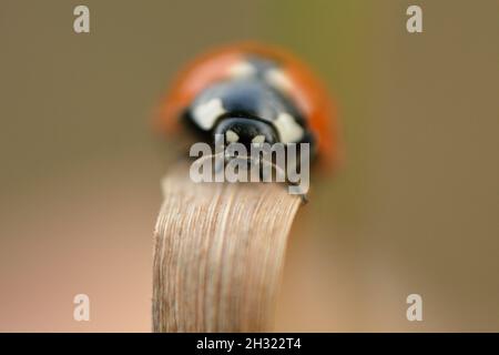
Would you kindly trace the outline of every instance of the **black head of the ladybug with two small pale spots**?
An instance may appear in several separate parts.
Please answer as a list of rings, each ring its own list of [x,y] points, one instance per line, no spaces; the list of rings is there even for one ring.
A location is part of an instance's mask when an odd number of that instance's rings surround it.
[[[216,125],[214,134],[222,134],[225,144],[242,143],[246,149],[249,149],[252,143],[278,142],[272,123],[253,118],[224,118]]]

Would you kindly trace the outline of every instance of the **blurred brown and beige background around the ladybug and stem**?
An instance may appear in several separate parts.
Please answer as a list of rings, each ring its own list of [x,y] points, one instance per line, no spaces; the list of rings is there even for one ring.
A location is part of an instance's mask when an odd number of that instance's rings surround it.
[[[499,1],[417,3],[421,34],[398,0],[1,0],[0,331],[150,331],[173,150],[151,114],[186,60],[242,39],[320,73],[346,145],[298,213],[276,331],[499,331]]]

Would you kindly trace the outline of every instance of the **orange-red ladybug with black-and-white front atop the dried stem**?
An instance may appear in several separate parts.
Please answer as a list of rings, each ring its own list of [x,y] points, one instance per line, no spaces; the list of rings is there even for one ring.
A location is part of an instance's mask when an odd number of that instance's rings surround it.
[[[276,48],[240,43],[187,65],[166,95],[160,128],[183,121],[227,143],[309,143],[313,156],[337,158],[335,110],[320,81],[294,55]],[[330,164],[328,164],[330,165]]]

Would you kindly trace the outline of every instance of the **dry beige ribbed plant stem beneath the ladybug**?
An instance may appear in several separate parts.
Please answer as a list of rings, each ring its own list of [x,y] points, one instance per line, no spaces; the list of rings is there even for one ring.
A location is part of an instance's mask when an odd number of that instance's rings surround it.
[[[163,181],[154,233],[154,332],[271,329],[287,235],[301,204],[283,184]]]

